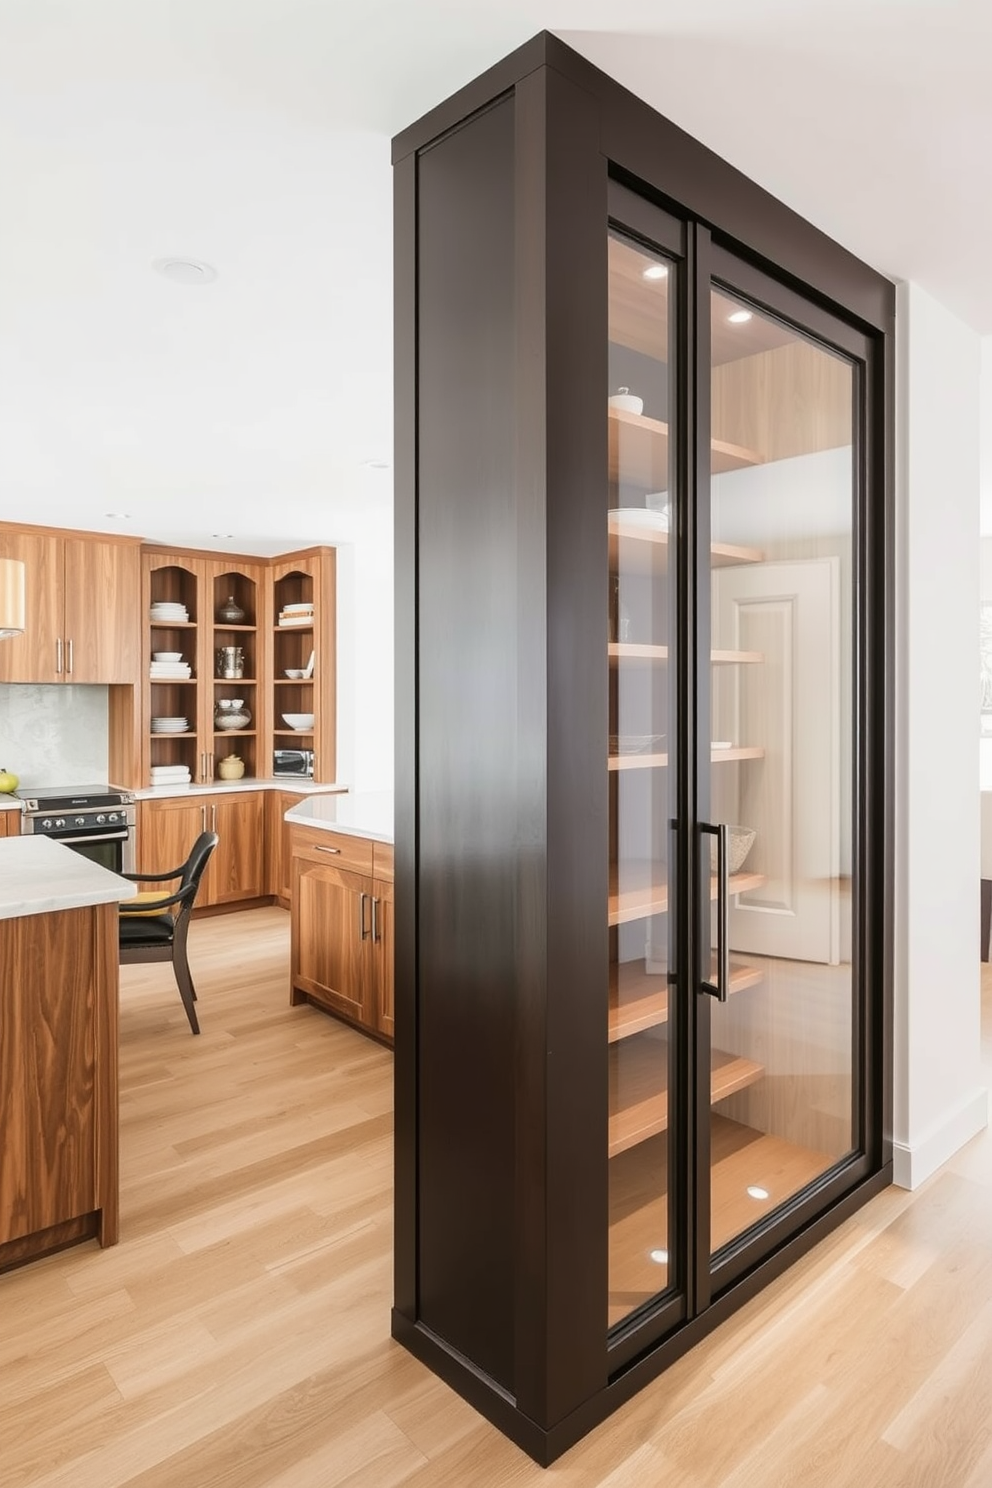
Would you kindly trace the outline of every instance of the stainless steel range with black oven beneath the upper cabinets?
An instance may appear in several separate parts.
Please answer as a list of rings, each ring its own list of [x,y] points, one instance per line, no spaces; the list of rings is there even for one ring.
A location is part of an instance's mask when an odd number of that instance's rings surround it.
[[[116,786],[15,790],[24,802],[21,835],[51,836],[113,873],[134,873],[134,793]]]

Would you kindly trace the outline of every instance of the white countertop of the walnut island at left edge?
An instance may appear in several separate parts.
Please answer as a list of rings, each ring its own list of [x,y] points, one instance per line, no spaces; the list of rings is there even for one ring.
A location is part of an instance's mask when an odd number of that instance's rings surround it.
[[[137,887],[51,838],[0,838],[0,920],[109,905]]]

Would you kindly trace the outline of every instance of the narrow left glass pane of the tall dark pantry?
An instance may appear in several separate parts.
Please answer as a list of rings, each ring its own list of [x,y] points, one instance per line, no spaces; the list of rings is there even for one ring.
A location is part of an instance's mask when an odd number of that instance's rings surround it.
[[[674,998],[669,820],[675,713],[674,281],[610,235],[608,1326],[675,1281],[669,1260]]]

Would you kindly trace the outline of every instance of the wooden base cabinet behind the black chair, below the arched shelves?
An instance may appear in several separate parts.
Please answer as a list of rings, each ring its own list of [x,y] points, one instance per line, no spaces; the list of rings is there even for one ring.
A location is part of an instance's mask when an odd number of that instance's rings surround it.
[[[138,872],[168,872],[186,862],[201,832],[216,832],[220,841],[201,881],[196,908],[262,899],[268,893],[262,795],[235,790],[141,801]]]

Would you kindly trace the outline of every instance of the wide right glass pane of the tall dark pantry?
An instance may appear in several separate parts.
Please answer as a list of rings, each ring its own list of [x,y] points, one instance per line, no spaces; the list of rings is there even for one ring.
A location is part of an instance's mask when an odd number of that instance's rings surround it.
[[[717,1253],[855,1140],[854,381],[729,292],[711,315],[711,821],[729,826],[730,952],[711,1022]]]

